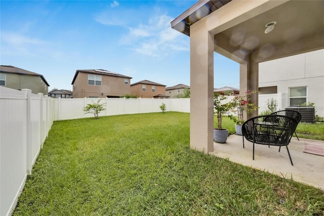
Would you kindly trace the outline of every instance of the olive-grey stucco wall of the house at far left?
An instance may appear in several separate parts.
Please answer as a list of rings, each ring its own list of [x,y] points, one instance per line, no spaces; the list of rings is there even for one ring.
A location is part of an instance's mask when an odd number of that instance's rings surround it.
[[[6,75],[6,86],[12,89],[30,89],[33,94],[43,93],[48,94],[48,86],[39,76],[20,75],[12,73],[4,73]]]

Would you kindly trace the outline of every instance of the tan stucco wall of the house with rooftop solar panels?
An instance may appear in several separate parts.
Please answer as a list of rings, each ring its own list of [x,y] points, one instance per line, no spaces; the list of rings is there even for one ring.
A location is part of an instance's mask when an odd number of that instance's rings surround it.
[[[125,78],[101,76],[101,86],[88,84],[89,73],[79,72],[73,84],[73,98],[82,97],[119,97],[131,93],[131,81],[125,84]],[[97,76],[97,75],[96,75]]]

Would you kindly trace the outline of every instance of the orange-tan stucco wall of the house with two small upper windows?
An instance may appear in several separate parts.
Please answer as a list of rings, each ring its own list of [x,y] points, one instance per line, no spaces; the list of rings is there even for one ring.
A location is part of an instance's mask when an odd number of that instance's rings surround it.
[[[146,85],[145,92],[142,91],[142,85]],[[152,92],[152,86],[155,86],[155,92]],[[131,94],[137,95],[140,98],[152,98],[157,94],[166,95],[166,87],[139,83],[131,86]]]

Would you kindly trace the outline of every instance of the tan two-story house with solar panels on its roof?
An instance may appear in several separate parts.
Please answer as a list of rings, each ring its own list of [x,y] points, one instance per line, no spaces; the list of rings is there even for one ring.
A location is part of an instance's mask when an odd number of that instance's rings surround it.
[[[76,70],[73,98],[120,97],[131,93],[131,79],[104,69]]]

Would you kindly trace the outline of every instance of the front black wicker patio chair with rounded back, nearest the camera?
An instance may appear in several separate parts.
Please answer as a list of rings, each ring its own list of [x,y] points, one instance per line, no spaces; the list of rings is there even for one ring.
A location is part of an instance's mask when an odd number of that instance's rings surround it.
[[[253,142],[253,160],[254,144],[267,146],[278,146],[279,152],[281,146],[286,146],[289,159],[292,165],[293,161],[289,153],[288,145],[290,137],[294,133],[298,122],[291,117],[281,115],[258,116],[249,119],[242,125],[243,148],[244,138]]]

